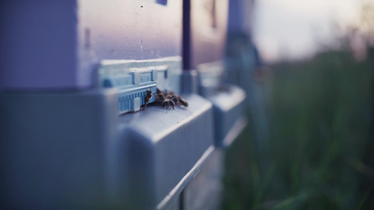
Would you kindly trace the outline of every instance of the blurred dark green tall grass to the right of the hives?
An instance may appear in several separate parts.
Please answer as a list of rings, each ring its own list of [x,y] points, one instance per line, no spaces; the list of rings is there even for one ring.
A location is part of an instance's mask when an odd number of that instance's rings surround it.
[[[272,94],[269,143],[255,149],[249,123],[229,149],[223,209],[374,209],[373,49],[367,55],[324,50],[272,66],[262,85]]]

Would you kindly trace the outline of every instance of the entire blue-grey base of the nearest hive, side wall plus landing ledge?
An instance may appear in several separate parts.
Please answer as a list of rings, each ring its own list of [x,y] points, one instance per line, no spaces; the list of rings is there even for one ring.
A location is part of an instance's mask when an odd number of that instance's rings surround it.
[[[214,150],[212,104],[198,95],[121,116],[114,88],[0,96],[7,207],[167,209]]]

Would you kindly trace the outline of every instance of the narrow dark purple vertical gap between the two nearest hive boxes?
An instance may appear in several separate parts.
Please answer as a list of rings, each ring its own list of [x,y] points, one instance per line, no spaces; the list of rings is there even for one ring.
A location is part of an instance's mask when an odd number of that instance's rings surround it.
[[[191,61],[191,2],[190,0],[183,0],[183,35],[182,35],[182,56],[183,69],[190,69]]]

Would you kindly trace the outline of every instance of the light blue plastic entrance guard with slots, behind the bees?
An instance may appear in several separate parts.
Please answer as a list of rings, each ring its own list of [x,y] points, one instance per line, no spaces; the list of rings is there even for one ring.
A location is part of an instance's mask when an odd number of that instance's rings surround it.
[[[146,90],[180,93],[181,57],[152,60],[104,60],[99,67],[98,85],[116,88],[118,113],[140,110],[145,104]],[[148,103],[155,101],[152,97]]]

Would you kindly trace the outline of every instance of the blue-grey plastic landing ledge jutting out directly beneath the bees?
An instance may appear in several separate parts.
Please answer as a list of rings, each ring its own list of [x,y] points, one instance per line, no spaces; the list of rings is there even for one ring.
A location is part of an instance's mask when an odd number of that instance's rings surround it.
[[[214,150],[211,103],[183,97],[188,108],[149,106],[119,117],[113,194],[129,209],[166,208]]]

